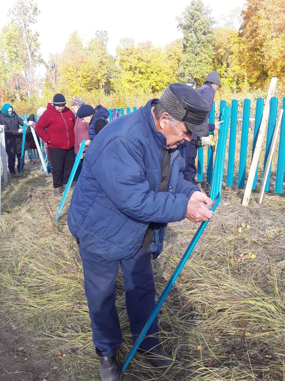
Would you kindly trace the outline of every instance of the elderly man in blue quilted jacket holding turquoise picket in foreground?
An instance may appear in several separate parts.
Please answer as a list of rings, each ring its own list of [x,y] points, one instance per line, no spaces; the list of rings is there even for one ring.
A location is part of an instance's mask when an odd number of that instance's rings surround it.
[[[206,221],[211,200],[183,177],[185,141],[206,135],[209,104],[190,86],[169,85],[160,99],[116,118],[92,141],[68,211],[84,272],[93,343],[102,381],[120,380],[122,343],[115,307],[119,264],[135,340],[155,306],[151,257],[163,248],[166,225]],[[139,351],[154,367],[171,357],[159,346],[158,320]]]

